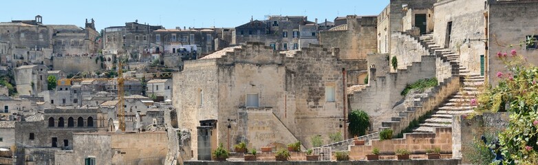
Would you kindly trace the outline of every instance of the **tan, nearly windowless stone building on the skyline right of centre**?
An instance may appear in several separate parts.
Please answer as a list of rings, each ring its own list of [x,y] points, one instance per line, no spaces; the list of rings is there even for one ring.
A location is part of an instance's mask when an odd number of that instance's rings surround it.
[[[325,47],[339,47],[343,59],[363,59],[376,52],[376,17],[346,17],[346,24],[319,32],[319,42]]]

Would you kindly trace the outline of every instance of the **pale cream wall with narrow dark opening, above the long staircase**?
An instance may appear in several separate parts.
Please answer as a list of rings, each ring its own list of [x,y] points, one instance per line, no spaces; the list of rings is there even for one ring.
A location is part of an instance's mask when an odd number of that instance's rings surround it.
[[[440,1],[435,3],[434,10],[435,30],[433,30],[433,39],[435,43],[460,54],[460,65],[469,69],[473,74],[480,74],[480,55],[486,53],[485,44],[482,41],[472,41],[470,43],[464,43],[464,41],[465,39],[487,39],[485,34],[484,12],[486,10],[484,10],[484,1]],[[504,11],[504,9],[502,10]],[[449,37],[447,36],[447,24],[449,22],[452,22],[452,30],[450,41],[446,41]]]

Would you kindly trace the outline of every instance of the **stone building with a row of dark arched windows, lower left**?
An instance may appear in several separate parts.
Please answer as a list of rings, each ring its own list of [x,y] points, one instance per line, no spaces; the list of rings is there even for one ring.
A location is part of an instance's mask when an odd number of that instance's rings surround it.
[[[45,109],[41,120],[15,123],[17,164],[49,162],[54,152],[73,148],[73,133],[107,131],[109,120],[97,108]]]

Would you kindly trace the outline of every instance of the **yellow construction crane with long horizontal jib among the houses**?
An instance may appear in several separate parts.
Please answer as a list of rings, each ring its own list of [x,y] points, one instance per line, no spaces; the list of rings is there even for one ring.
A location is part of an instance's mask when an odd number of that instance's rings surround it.
[[[116,80],[116,83],[118,83],[118,122],[119,122],[119,129],[122,132],[125,132],[125,91],[124,91],[124,83],[125,80],[136,80],[138,76],[146,77],[150,76],[151,78],[171,78],[173,72],[158,72],[158,73],[146,73],[146,74],[131,74],[133,78],[125,78],[123,76],[122,71],[122,62],[118,61],[118,77],[116,78],[65,78],[58,80],[58,85],[65,84],[65,81],[68,81],[69,84],[71,84],[73,81],[84,81],[84,80],[97,80],[97,81],[110,81],[110,80]],[[78,74],[77,74],[78,75]],[[63,83],[61,83],[63,82]]]

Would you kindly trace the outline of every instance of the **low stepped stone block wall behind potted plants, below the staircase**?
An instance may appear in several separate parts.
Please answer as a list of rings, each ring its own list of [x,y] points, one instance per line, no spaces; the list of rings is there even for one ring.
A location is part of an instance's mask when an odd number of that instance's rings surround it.
[[[369,145],[349,146],[349,158],[365,159],[378,148],[382,155],[394,155],[397,149],[407,149],[411,154],[424,154],[427,149],[440,148],[441,153],[452,153],[451,128],[437,128],[435,133],[404,133],[402,139],[370,140]]]

